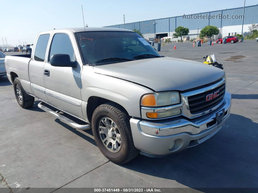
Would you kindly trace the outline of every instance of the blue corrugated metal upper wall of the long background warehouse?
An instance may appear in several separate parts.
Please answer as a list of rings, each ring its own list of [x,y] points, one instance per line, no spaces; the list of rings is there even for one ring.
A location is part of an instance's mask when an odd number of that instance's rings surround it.
[[[200,13],[199,13],[200,14]],[[243,7],[225,9],[219,11],[211,11],[201,13],[202,15],[242,15]],[[192,16],[198,15],[192,14]],[[253,24],[258,23],[258,5],[252,5],[245,7],[245,19],[244,24]],[[134,23],[126,23],[125,29],[140,29],[142,33],[166,33],[175,31],[175,28],[178,26],[187,27],[189,30],[196,30],[198,27],[202,29],[207,25],[216,26],[218,28],[223,26],[236,26],[241,25],[242,19],[183,19],[183,16],[171,17],[171,18],[162,18],[148,21],[139,21]],[[124,28],[124,24],[106,26],[109,28]]]

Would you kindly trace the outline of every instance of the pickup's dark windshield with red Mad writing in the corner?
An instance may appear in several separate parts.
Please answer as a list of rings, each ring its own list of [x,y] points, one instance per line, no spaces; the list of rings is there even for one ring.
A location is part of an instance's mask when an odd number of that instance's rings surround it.
[[[160,57],[136,32],[88,31],[78,32],[76,36],[85,64]]]

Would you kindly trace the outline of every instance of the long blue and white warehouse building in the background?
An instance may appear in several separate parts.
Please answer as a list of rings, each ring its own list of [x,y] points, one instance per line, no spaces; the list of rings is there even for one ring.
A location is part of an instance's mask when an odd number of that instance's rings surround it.
[[[175,28],[183,26],[189,29],[189,38],[197,38],[200,30],[207,25],[219,28],[219,35],[214,39],[225,36],[241,34],[243,22],[243,7],[210,11],[204,13],[195,13],[191,15],[182,15],[170,18],[153,19],[147,21],[138,21],[133,23],[105,26],[109,28],[139,29],[144,38],[152,39],[158,37],[173,36]],[[244,10],[243,33],[248,33],[248,27],[251,24],[258,24],[258,5],[246,6]],[[199,29],[198,29],[199,28]]]

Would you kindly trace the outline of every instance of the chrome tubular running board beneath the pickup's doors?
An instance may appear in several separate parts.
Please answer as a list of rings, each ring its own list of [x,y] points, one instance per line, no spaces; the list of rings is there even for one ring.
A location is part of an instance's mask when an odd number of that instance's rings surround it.
[[[38,107],[40,109],[42,109],[43,111],[46,111],[47,113],[50,113],[51,115],[54,115],[60,121],[62,121],[63,123],[65,123],[65,124],[75,128],[75,129],[78,129],[78,130],[88,130],[88,129],[91,129],[91,124],[85,124],[85,125],[78,124],[78,123],[74,122],[73,120],[67,118],[66,116],[61,115],[61,114],[53,111],[52,109],[44,106],[44,102],[40,102],[38,104]]]

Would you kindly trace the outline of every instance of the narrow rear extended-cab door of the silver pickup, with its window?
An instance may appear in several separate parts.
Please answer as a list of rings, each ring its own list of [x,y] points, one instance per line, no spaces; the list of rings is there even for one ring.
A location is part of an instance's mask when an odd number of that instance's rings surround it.
[[[31,87],[34,95],[41,100],[47,102],[47,97],[45,94],[45,84],[44,84],[44,65],[47,61],[46,59],[46,49],[49,43],[50,33],[39,34],[35,49],[32,53],[31,62],[29,64],[30,80],[32,82]]]

